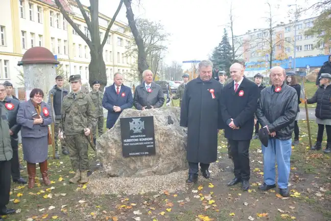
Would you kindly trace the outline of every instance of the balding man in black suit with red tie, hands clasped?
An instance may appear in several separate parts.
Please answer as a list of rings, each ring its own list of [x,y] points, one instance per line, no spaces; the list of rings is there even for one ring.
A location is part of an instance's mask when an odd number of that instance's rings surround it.
[[[227,185],[242,182],[242,189],[249,189],[250,168],[248,150],[253,135],[254,113],[259,96],[258,86],[244,77],[240,63],[230,67],[232,82],[224,86],[221,113],[225,127],[225,137],[231,146],[234,164],[234,179]]]

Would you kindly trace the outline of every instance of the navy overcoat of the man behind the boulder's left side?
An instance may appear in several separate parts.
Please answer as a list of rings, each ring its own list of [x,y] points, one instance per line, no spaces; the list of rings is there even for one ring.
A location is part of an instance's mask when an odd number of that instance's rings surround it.
[[[117,95],[114,84],[106,87],[102,106],[108,110],[106,127],[112,128],[124,109],[133,106],[133,97],[130,87],[122,84],[120,94]],[[121,107],[121,112],[114,112],[113,107]]]

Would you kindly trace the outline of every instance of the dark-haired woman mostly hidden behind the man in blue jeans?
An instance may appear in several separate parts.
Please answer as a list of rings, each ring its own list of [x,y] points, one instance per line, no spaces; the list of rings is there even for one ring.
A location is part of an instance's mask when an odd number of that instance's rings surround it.
[[[299,121],[299,117],[300,117],[300,107],[299,104],[300,102],[300,93],[301,93],[301,86],[300,84],[297,83],[297,78],[295,76],[295,74],[293,72],[287,72],[286,73],[286,83],[293,87],[298,95],[298,113],[297,116],[295,118],[294,121],[294,142],[292,143],[292,145],[298,145],[299,144],[299,126],[298,126],[298,121]]]

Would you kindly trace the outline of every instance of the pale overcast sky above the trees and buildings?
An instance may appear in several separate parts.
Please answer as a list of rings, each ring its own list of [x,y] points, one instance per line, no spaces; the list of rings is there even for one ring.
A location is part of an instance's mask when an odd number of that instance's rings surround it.
[[[133,0],[136,3],[137,0]],[[112,17],[119,0],[99,0],[100,12]],[[263,17],[268,16],[269,7],[266,0],[140,0],[140,6],[133,6],[135,17],[159,21],[164,29],[171,34],[168,42],[166,63],[172,60],[201,60],[208,58],[212,50],[222,39],[223,29],[229,22],[230,4],[232,2],[234,15],[234,34],[245,34],[254,28],[267,28]],[[289,19],[294,20],[295,0],[269,1],[272,2],[272,13],[275,24]],[[298,5],[304,5],[305,0],[297,0]],[[310,3],[315,0],[310,0]],[[82,3],[89,5],[88,0]],[[277,9],[276,6],[279,5]],[[254,6],[254,7],[253,7]],[[127,23],[125,6],[117,18]],[[311,13],[303,15],[312,16]],[[229,29],[228,29],[229,31]],[[187,67],[184,66],[184,68]],[[187,68],[189,68],[188,65]]]

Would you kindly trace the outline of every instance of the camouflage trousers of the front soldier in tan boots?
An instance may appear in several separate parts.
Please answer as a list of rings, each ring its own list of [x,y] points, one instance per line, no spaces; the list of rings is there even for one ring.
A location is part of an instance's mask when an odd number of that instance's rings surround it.
[[[66,147],[74,170],[88,170],[88,141],[84,134],[66,135]]]

